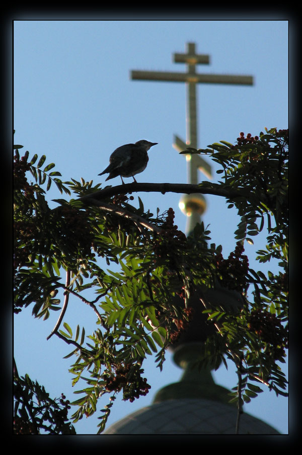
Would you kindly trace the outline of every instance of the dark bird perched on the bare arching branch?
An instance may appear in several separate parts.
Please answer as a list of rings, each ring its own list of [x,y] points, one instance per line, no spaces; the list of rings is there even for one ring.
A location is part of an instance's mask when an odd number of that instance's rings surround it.
[[[135,142],[135,144],[125,144],[118,147],[109,158],[109,166],[99,175],[109,172],[106,180],[120,175],[123,185],[123,177],[133,177],[135,183],[137,183],[134,175],[146,168],[149,160],[147,151],[150,147],[157,144],[158,142],[149,142],[142,139],[141,141]]]

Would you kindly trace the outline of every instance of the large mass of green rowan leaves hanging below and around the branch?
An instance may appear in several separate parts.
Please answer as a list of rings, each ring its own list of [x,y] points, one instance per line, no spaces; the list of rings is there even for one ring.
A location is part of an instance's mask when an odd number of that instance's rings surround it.
[[[216,331],[201,348],[200,365],[218,368],[223,362],[227,367],[225,358],[231,359],[239,374],[234,391],[239,403],[260,393],[261,385],[285,393],[277,362],[284,362],[287,348],[287,144],[288,133],[273,129],[260,138],[242,133],[235,145],[221,141],[187,151],[206,153],[221,166],[222,181],[200,187],[233,195],[226,202],[237,209],[240,222],[228,258],[220,245],[208,246],[210,231],[203,223],[185,236],[174,225],[172,208],[154,215],[139,197],[135,206],[134,197],[124,193],[84,204],[80,198],[93,195],[100,184],[83,178],[62,182],[53,163],[45,166],[44,155],[39,160],[36,155],[30,160],[29,152],[20,157],[21,146],[16,146],[15,312],[31,305],[35,317],[46,319],[61,310],[63,300],[60,325],[69,297],[97,317],[92,333],[79,324],[73,329],[65,320],[63,330],[54,332],[72,347],[65,356],[71,360],[72,386],[85,383],[74,392],[80,398],[71,403],[77,408],[73,422],[95,413],[109,394],[99,417],[101,432],[118,393],[130,401],[148,393],[144,359],[154,356],[162,370],[167,347],[189,326],[190,297],[197,289],[205,296],[209,290],[233,293],[243,302],[230,311],[201,299]],[[29,173],[34,184],[27,180]],[[61,194],[73,192],[74,199],[56,199],[57,208],[50,210],[46,196],[52,183]],[[244,255],[244,241],[253,243],[251,237],[264,226],[267,244],[257,259],[277,260],[278,274],[251,269]],[[70,276],[65,285],[62,274]]]

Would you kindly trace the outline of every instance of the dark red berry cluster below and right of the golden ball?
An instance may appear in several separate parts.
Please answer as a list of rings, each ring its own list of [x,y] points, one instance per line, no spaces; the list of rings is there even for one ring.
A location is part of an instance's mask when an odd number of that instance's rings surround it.
[[[243,292],[246,286],[246,274],[249,270],[248,256],[242,254],[244,246],[237,242],[235,251],[230,253],[228,259],[223,259],[221,253],[215,256],[217,270],[222,277],[222,286]]]

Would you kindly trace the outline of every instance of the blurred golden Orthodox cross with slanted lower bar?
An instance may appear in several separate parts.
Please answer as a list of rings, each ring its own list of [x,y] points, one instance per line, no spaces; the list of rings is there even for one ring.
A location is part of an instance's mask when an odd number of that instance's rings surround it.
[[[131,78],[140,80],[161,80],[173,82],[185,82],[187,86],[187,131],[186,142],[178,136],[174,136],[173,146],[179,151],[187,147],[197,147],[197,109],[196,109],[196,84],[214,83],[214,84],[237,84],[253,85],[253,76],[230,75],[230,74],[199,74],[196,72],[197,64],[208,64],[209,55],[197,54],[195,43],[187,43],[187,52],[174,53],[174,62],[186,63],[187,72],[168,72],[168,71],[139,71],[132,70]],[[198,169],[201,170],[208,178],[211,178],[211,166],[198,154],[187,154],[188,164],[188,183],[198,184]],[[194,197],[194,195],[192,195]],[[194,204],[193,204],[194,205]],[[188,213],[187,213],[188,214]],[[196,219],[196,217],[195,217]],[[193,222],[193,220],[192,220]],[[192,227],[192,223],[191,223]]]

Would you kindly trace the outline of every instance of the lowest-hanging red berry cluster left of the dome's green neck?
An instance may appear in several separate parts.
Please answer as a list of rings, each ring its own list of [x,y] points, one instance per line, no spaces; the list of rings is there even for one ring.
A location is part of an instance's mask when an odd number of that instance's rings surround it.
[[[108,392],[113,390],[119,392],[123,389],[123,399],[132,403],[135,398],[146,395],[151,388],[147,384],[146,378],[141,378],[141,373],[143,373],[143,370],[139,368],[139,365],[132,366],[127,364],[123,366],[119,364],[115,368],[115,376],[107,373],[103,375],[106,383],[105,388]]]

